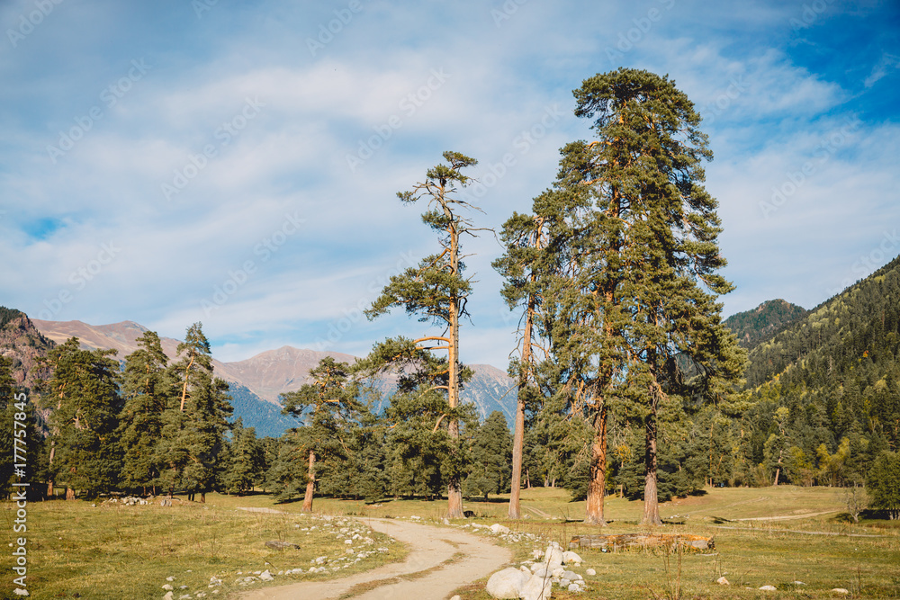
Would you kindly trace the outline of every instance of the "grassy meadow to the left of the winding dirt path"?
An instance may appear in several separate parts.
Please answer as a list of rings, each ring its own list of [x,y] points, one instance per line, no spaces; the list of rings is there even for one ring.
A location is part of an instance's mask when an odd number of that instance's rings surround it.
[[[235,510],[247,506],[247,498],[212,494],[204,506],[98,505],[82,501],[51,501],[28,505],[28,587],[31,598],[155,598],[162,597],[167,577],[174,577],[175,597],[206,592],[207,597],[228,596],[237,587],[235,580],[254,571],[301,568],[308,571],[311,560],[328,556],[339,576],[401,560],[405,549],[380,533],[365,533],[373,543],[356,545],[357,551],[379,547],[389,552],[374,553],[358,563],[342,568],[348,560],[347,535],[338,535],[343,520],[326,522],[318,516],[270,515]],[[272,506],[272,501],[259,504]],[[4,503],[9,522],[6,543],[21,533],[13,532],[13,505]],[[296,527],[295,525],[299,525]],[[303,531],[311,529],[313,531]],[[364,537],[365,537],[364,535]],[[273,551],[269,540],[294,542],[295,551]],[[12,557],[4,553],[0,569],[12,573]],[[238,574],[238,572],[240,574]],[[207,587],[211,577],[222,579],[217,596]],[[338,577],[325,574],[276,577],[278,585],[302,580]],[[4,578],[0,597],[12,596],[13,576]],[[263,584],[257,583],[253,587]],[[187,586],[184,591],[179,587]],[[244,588],[241,588],[244,589]]]

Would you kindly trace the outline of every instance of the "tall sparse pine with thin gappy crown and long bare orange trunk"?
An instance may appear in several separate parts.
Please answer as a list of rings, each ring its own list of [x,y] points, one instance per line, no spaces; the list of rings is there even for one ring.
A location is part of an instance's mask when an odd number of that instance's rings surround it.
[[[375,318],[394,306],[401,306],[410,315],[418,315],[420,321],[431,321],[446,327],[443,335],[422,337],[416,343],[437,342],[438,345],[430,349],[448,352],[447,383],[440,387],[446,389],[447,402],[454,410],[459,406],[463,368],[459,359],[459,321],[468,315],[465,307],[472,291],[471,282],[463,276],[460,238],[464,234],[474,235],[473,231],[477,230],[461,211],[478,210],[469,202],[456,198],[456,193],[459,187],[471,181],[463,175],[462,169],[477,165],[478,161],[458,152],[445,152],[444,158],[448,165],[428,169],[424,182],[416,184],[410,192],[397,194],[401,201],[408,203],[428,199],[429,210],[422,215],[422,221],[438,232],[442,250],[437,255],[426,257],[419,266],[392,277],[382,295],[366,311],[366,316]],[[454,445],[451,452],[455,456],[445,461],[451,469],[446,473],[447,515],[449,518],[462,518],[464,461],[459,442],[459,422],[454,416],[449,418],[448,429]]]

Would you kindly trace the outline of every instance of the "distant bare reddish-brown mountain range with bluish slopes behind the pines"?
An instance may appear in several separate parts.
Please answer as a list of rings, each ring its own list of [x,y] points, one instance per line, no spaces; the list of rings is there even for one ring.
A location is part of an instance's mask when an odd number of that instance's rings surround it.
[[[137,339],[148,331],[147,327],[133,321],[122,321],[112,325],[88,325],[81,321],[42,321],[34,319],[34,327],[49,339],[62,343],[76,336],[85,348],[115,348],[117,358],[123,359],[138,349]],[[178,340],[161,338],[163,350],[170,358],[175,358]],[[244,361],[222,363],[215,359],[212,366],[215,374],[229,382],[232,393],[234,416],[240,416],[244,425],[256,427],[257,434],[280,435],[285,429],[296,425],[293,417],[281,414],[278,395],[299,390],[309,381],[309,373],[325,356],[331,356],[343,363],[354,363],[356,356],[338,352],[318,352],[292,346],[282,346],[268,350]],[[513,425],[516,397],[507,393],[513,386],[505,372],[487,364],[470,365],[475,372],[473,380],[465,385],[461,394],[464,402],[473,402],[482,418],[494,410],[500,410]],[[390,381],[385,381],[384,393],[390,393]]]

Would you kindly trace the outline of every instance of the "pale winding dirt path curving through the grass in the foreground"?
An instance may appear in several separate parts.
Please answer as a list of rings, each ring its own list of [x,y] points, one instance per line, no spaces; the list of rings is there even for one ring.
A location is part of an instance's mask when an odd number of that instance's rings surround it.
[[[262,511],[261,511],[262,512]],[[365,600],[394,600],[417,598],[432,600],[446,598],[457,587],[487,577],[500,570],[512,552],[496,546],[472,533],[458,529],[406,523],[393,519],[359,519],[374,531],[386,533],[395,540],[410,545],[410,555],[403,562],[384,565],[348,578],[331,581],[303,581],[279,587],[266,587],[238,596],[241,600],[325,600],[346,594],[352,587],[385,580],[383,585],[354,598]],[[464,558],[450,560],[456,553]],[[411,581],[395,579],[403,575],[434,569]]]

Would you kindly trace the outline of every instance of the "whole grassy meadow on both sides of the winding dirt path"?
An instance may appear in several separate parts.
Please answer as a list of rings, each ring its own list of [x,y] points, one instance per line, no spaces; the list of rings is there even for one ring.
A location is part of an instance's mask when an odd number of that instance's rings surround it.
[[[496,500],[496,501],[495,501]],[[503,498],[490,502],[467,501],[465,507],[482,524],[506,524],[514,532],[541,535],[546,542],[567,545],[573,535],[599,533],[597,527],[579,522],[583,503],[568,502],[563,489],[523,490],[522,502],[529,518],[506,519]],[[238,506],[275,508],[286,515],[247,513]],[[206,505],[91,506],[87,502],[53,501],[28,506],[29,571],[31,598],[161,598],[167,577],[175,598],[228,597],[238,589],[238,578],[254,571],[303,569],[301,575],[277,577],[277,583],[332,578],[371,569],[385,561],[400,560],[404,549],[369,533],[370,546],[389,552],[373,552],[358,562],[347,560],[348,533],[352,523],[342,518],[325,521],[300,514],[301,503],[275,505],[264,494],[227,497],[212,494]],[[6,542],[13,533],[13,506],[4,504]],[[642,505],[610,497],[606,503],[611,522],[602,533],[633,533]],[[317,498],[319,515],[409,517],[440,524],[446,501],[385,500],[364,502]],[[841,490],[833,488],[710,488],[699,496],[680,498],[661,507],[671,524],[666,533],[715,536],[716,550],[707,555],[669,557],[653,552],[580,550],[582,569],[596,569],[585,578],[589,590],[580,595],[554,589],[554,598],[833,598],[835,587],[851,592],[843,597],[900,597],[900,525],[897,522],[864,521],[846,524],[835,516],[844,510]],[[542,515],[549,515],[545,518]],[[761,520],[761,517],[792,517]],[[312,529],[315,527],[315,529]],[[341,529],[345,533],[341,533]],[[357,530],[358,531],[358,530]],[[869,537],[864,537],[869,536]],[[300,551],[272,551],[268,540],[301,545]],[[526,560],[533,543],[513,544],[518,561]],[[354,547],[359,551],[365,547]],[[311,574],[311,560],[329,557],[326,573]],[[352,558],[352,556],[351,556]],[[668,569],[666,561],[668,559]],[[344,568],[348,563],[350,566]],[[12,596],[12,557],[4,554],[0,567],[7,574],[0,594]],[[337,570],[331,570],[337,569]],[[720,586],[724,576],[730,586]],[[218,594],[207,587],[211,577],[222,579]],[[804,585],[793,582],[800,581]],[[263,584],[254,584],[258,587]],[[778,587],[763,592],[764,585]],[[186,586],[181,589],[181,586]],[[746,589],[746,588],[750,589]],[[206,596],[198,596],[198,592]],[[461,588],[468,600],[488,598],[483,582]],[[424,599],[423,599],[424,600]]]

